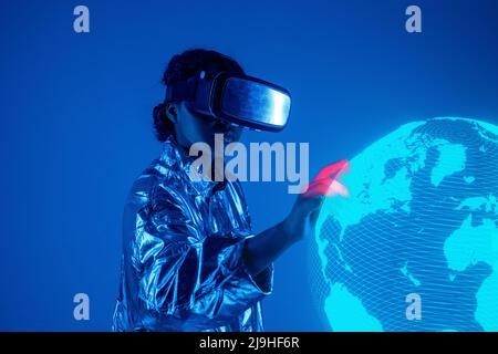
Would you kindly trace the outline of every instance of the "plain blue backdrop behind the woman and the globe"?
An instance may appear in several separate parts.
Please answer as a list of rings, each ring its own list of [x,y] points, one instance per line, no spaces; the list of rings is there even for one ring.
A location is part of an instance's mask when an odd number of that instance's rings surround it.
[[[73,31],[90,8],[91,32]],[[209,48],[288,87],[291,122],[245,142],[309,142],[310,170],[351,158],[412,119],[498,124],[496,1],[0,2],[0,330],[110,330],[122,208],[158,155],[152,108],[170,56]],[[294,196],[247,183],[257,231]],[[313,305],[307,240],[276,264],[269,331],[326,330]],[[91,320],[73,319],[85,292]]]

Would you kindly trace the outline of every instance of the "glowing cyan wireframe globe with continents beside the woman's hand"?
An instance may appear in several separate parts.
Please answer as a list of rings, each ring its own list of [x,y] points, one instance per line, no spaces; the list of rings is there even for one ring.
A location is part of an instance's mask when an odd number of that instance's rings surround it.
[[[498,331],[498,127],[413,122],[350,160],[313,288],[332,331]]]

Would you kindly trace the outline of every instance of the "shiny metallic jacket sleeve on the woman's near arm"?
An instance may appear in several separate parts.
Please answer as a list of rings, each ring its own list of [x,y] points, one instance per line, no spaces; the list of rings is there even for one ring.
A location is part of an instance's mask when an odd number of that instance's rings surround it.
[[[206,237],[199,216],[173,189],[157,186],[137,220],[138,295],[162,329],[226,325],[271,292],[272,267],[251,277],[243,262],[252,235]]]

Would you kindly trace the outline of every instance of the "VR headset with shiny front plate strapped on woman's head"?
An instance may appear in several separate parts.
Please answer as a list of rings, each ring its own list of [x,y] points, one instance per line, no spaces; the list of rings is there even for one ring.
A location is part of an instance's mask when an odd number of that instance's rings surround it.
[[[189,110],[230,124],[269,132],[286,127],[291,106],[283,87],[247,75],[206,71],[168,85],[165,102],[173,101],[184,101]]]

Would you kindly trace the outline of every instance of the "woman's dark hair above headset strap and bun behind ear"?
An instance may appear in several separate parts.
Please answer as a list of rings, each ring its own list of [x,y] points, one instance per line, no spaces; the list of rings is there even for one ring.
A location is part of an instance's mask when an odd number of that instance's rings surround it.
[[[200,71],[227,71],[232,74],[245,74],[242,67],[232,59],[214,50],[193,49],[172,58],[163,74],[163,84],[170,85],[184,81]],[[174,134],[173,123],[165,113],[165,103],[154,107],[154,129],[159,142],[165,142]]]

